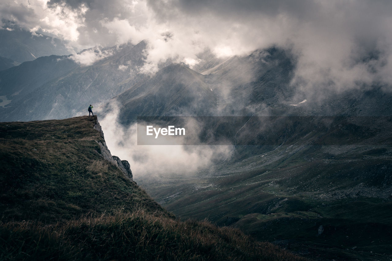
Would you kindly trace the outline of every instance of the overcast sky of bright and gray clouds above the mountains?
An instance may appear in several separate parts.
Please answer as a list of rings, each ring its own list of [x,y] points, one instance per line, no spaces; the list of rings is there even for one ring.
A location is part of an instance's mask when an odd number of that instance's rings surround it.
[[[276,45],[297,58],[304,88],[392,83],[389,0],[2,0],[0,15],[79,49],[148,40],[151,71],[166,58],[197,63],[206,48],[232,56]]]

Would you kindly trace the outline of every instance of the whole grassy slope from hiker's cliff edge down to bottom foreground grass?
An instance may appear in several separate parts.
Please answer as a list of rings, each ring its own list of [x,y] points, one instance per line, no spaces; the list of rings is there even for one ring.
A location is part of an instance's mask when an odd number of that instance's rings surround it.
[[[304,260],[174,220],[111,157],[96,117],[0,123],[0,260]]]

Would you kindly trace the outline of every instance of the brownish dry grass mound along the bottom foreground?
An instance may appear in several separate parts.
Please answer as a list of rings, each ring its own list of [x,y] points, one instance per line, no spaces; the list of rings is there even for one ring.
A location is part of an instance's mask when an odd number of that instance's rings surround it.
[[[305,260],[234,228],[144,210],[91,214],[45,227],[1,225],[2,260]]]

